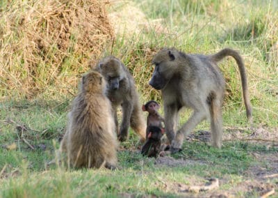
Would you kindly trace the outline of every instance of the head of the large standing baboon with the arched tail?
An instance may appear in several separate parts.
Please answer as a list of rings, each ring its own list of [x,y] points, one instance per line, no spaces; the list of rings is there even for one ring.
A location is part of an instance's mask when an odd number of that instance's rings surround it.
[[[177,61],[178,56],[179,52],[174,48],[165,48],[158,52],[152,60],[152,64],[155,67],[149,85],[157,90],[163,89],[167,82],[172,79],[174,73],[176,73],[177,66],[179,65],[179,61]]]

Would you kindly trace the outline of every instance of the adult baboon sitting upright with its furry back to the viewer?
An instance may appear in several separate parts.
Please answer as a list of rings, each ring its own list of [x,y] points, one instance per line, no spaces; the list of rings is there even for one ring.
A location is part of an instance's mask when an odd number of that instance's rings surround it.
[[[100,73],[83,75],[60,146],[73,167],[114,169],[117,165],[115,123],[105,91],[106,81]]]

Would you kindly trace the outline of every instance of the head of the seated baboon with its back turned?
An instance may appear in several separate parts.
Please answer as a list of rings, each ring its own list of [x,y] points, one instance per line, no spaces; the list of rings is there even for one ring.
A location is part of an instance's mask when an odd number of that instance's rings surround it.
[[[82,91],[104,93],[106,90],[106,82],[104,77],[95,70],[91,70],[82,77]]]

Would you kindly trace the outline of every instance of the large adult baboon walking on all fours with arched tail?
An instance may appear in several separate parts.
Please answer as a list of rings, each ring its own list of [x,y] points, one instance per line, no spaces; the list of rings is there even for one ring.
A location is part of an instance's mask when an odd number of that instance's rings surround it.
[[[224,78],[217,66],[225,56],[236,59],[240,70],[247,118],[252,122],[252,108],[247,89],[247,77],[243,59],[238,52],[229,48],[217,54],[184,54],[174,48],[163,49],[152,61],[154,73],[149,84],[162,91],[165,111],[165,130],[171,142],[172,153],[181,149],[183,134],[188,133],[204,119],[211,119],[213,146],[222,143],[222,102]],[[178,112],[181,107],[190,107],[193,115],[176,132]]]

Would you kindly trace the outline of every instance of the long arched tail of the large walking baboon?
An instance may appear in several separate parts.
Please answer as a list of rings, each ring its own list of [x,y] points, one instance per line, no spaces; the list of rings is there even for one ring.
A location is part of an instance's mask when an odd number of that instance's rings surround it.
[[[236,52],[235,50],[231,50],[229,48],[224,48],[220,52],[213,54],[211,56],[211,59],[215,62],[218,62],[221,61],[225,56],[232,56],[234,57],[234,59],[236,59],[236,63],[238,64],[238,69],[240,72],[241,84],[243,86],[243,99],[246,108],[247,119],[248,121],[250,121],[250,123],[252,123],[252,107],[251,107],[249,92],[247,88],[247,76],[245,72],[243,59],[241,58],[240,54],[238,54],[238,52]]]

